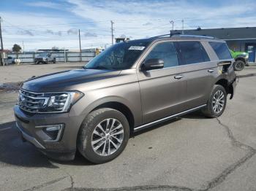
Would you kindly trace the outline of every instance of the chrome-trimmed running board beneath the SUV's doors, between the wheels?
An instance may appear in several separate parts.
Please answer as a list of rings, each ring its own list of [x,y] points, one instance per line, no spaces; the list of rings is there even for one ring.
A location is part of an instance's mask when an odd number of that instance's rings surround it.
[[[145,128],[149,128],[149,127],[151,127],[151,126],[153,126],[153,125],[157,125],[157,124],[160,123],[160,122],[164,122],[164,121],[167,121],[167,120],[171,120],[171,119],[173,119],[173,118],[175,118],[175,117],[179,117],[179,116],[181,116],[181,115],[188,114],[188,113],[190,113],[190,112],[194,112],[194,111],[196,111],[196,110],[198,110],[198,109],[201,109],[201,108],[203,108],[203,107],[205,107],[205,106],[206,106],[206,104],[204,104],[204,105],[202,105],[202,106],[197,106],[197,107],[195,107],[195,108],[193,108],[193,109],[189,109],[189,110],[184,111],[184,112],[180,112],[180,113],[178,113],[178,114],[170,115],[169,117],[165,117],[165,118],[162,118],[162,119],[160,119],[160,120],[156,120],[156,121],[154,121],[154,122],[148,122],[148,123],[146,123],[146,124],[144,124],[144,125],[140,125],[140,126],[134,128],[134,131],[136,132],[136,131],[138,131],[138,130],[143,130],[143,129],[145,129]]]

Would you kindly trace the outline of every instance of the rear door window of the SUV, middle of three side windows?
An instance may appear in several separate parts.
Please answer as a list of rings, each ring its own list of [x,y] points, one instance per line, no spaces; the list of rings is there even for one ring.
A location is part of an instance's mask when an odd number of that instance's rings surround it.
[[[176,44],[181,54],[181,65],[210,61],[200,42],[176,42]]]

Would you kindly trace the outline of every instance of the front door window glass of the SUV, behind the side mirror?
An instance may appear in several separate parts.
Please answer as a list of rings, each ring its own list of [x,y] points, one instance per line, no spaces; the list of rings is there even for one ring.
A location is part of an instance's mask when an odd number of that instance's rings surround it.
[[[146,61],[148,59],[159,58],[164,61],[164,68],[178,66],[178,58],[176,53],[176,48],[173,45],[173,42],[163,42],[157,44],[149,52],[148,56],[146,57]]]

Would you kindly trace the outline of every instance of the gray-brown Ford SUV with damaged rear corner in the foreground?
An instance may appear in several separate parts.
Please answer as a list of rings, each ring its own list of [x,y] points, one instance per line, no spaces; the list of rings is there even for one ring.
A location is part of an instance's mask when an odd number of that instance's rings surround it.
[[[45,155],[92,163],[121,154],[130,133],[197,109],[219,117],[236,87],[222,40],[157,36],[109,47],[83,69],[23,82],[18,130]]]

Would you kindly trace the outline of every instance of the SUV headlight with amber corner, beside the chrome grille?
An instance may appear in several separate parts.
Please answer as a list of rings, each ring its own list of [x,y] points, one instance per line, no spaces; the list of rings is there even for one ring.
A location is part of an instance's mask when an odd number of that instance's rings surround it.
[[[45,112],[67,112],[82,97],[80,92],[50,93]]]

